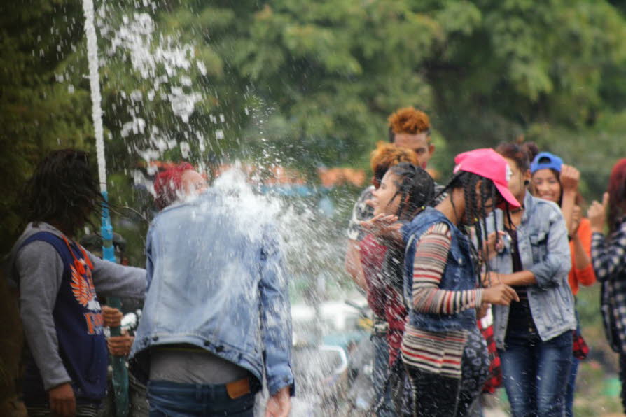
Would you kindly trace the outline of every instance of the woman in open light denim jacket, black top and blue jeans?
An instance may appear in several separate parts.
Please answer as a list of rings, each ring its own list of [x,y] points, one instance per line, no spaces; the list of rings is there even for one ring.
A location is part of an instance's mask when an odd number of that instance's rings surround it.
[[[512,285],[520,297],[493,309],[504,386],[513,416],[562,416],[576,329],[567,229],[556,204],[527,192],[526,150],[514,144],[497,150],[513,170],[510,191],[523,202],[509,218],[496,211],[487,221],[487,253],[495,255],[485,283]],[[506,230],[497,239],[494,225]]]

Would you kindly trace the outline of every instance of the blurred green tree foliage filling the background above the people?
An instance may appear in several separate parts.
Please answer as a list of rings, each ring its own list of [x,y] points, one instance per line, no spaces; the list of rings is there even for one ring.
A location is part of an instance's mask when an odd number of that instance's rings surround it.
[[[409,105],[431,115],[434,164],[444,172],[461,150],[525,135],[583,167],[595,197],[624,151],[626,24],[610,1],[96,6],[116,178],[153,158],[366,167],[373,143],[387,139],[387,115]],[[34,162],[60,146],[91,150],[93,141],[80,2],[1,11],[1,205],[15,226]],[[119,192],[132,204],[132,188]]]

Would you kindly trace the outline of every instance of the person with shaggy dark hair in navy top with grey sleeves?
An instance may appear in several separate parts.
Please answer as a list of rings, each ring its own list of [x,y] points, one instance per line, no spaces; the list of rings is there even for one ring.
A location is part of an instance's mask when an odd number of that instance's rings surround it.
[[[102,197],[80,150],[56,150],[27,184],[25,231],[8,263],[28,346],[29,416],[95,416],[108,353],[96,296],[143,298],[146,271],[101,260],[74,240]]]

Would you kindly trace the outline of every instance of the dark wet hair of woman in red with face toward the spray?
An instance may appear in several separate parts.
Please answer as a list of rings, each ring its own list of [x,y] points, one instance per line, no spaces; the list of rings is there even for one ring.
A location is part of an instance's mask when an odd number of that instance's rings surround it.
[[[396,176],[394,183],[398,187],[393,198],[400,195],[396,215],[400,220],[411,220],[435,197],[435,181],[426,170],[416,164],[403,162],[391,167],[389,171]]]

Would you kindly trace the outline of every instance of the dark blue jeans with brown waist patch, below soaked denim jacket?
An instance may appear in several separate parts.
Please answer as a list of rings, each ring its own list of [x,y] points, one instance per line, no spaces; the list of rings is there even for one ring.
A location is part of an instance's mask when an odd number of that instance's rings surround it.
[[[150,417],[253,417],[255,395],[253,392],[232,400],[225,385],[148,382]]]

